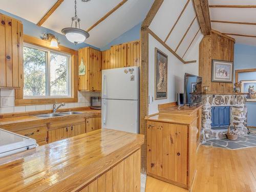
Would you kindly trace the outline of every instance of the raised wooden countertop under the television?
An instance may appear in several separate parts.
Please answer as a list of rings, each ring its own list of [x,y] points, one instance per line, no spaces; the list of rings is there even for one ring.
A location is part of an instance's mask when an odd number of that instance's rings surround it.
[[[197,110],[199,110],[200,108],[202,108],[202,105],[196,105],[196,106],[178,106],[178,105],[174,105],[174,106],[168,106],[166,108],[162,108],[159,109],[159,113],[172,113],[172,114],[183,114],[183,115],[190,115],[193,114],[194,112],[196,112]]]

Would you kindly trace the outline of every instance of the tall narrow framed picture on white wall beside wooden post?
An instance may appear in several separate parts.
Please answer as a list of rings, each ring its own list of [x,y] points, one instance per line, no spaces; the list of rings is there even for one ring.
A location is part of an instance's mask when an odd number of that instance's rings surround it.
[[[155,99],[167,98],[167,58],[166,54],[155,48]]]

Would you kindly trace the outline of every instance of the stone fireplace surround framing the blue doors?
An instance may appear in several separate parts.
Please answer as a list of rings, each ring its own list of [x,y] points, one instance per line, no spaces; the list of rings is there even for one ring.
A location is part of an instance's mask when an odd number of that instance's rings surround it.
[[[225,138],[227,130],[211,129],[211,109],[216,106],[230,106],[230,123],[235,123],[239,135],[247,134],[247,108],[245,106],[246,95],[202,95],[202,130],[201,141],[207,139]]]

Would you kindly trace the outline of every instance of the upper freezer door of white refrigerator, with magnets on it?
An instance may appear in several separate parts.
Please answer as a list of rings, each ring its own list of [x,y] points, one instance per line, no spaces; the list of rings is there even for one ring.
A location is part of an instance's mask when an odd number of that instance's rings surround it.
[[[139,68],[102,70],[102,95],[104,99],[138,100]]]

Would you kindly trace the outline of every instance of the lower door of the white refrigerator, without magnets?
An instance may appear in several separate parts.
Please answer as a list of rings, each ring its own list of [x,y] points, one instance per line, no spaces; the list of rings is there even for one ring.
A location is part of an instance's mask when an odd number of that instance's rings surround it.
[[[138,101],[102,99],[102,128],[139,133]]]

